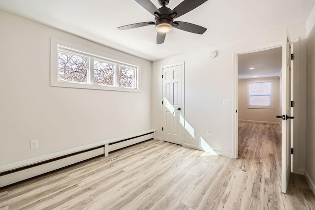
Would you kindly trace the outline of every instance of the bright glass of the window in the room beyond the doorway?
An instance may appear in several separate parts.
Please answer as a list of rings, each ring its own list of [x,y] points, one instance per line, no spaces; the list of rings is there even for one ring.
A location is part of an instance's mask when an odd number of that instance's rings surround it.
[[[271,82],[249,83],[249,106],[271,107]]]

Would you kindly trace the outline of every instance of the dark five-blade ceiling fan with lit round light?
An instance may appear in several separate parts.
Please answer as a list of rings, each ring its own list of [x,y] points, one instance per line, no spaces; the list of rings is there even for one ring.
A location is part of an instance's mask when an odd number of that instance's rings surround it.
[[[185,30],[191,33],[203,34],[207,29],[201,26],[182,22],[182,21],[174,21],[174,18],[178,18],[194,8],[200,6],[207,0],[184,0],[180,4],[178,4],[173,10],[166,7],[169,0],[158,0],[161,8],[157,8],[150,0],[135,0],[137,1],[143,8],[145,8],[148,12],[155,16],[155,21],[151,22],[142,22],[135,23],[126,26],[118,27],[119,30],[127,30],[134,29],[143,26],[156,26],[156,30],[158,31],[157,35],[157,44],[162,44],[165,40],[166,33],[171,31],[172,28]]]

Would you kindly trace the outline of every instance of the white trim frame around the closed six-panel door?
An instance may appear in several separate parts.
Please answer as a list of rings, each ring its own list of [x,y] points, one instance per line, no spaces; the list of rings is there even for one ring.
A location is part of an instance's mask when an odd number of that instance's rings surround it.
[[[183,121],[181,122],[182,123],[182,145],[184,145],[185,143],[185,62],[182,62],[182,63],[176,63],[176,64],[171,64],[171,65],[166,65],[166,66],[162,66],[161,67],[161,75],[163,75],[163,68],[168,68],[168,67],[173,67],[173,66],[177,66],[177,65],[182,65],[182,107],[181,107],[181,111],[182,111],[182,117],[183,117]],[[163,78],[161,76],[161,79],[162,79],[162,84],[163,84]],[[161,92],[163,92],[163,85],[162,85],[162,90]],[[163,98],[163,94],[162,94],[162,100],[163,101],[164,98]],[[162,105],[164,106],[164,105]],[[163,108],[162,108],[162,127],[164,126],[163,125]],[[164,141],[164,132],[162,131],[161,132],[161,140]]]

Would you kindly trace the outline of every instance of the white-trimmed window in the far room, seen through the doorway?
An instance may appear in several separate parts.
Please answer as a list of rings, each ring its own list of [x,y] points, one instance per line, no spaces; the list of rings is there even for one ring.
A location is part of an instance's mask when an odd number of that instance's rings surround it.
[[[248,82],[247,108],[273,109],[273,81]]]

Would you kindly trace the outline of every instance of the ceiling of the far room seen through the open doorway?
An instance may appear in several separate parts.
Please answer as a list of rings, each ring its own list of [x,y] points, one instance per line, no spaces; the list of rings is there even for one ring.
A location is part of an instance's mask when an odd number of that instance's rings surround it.
[[[250,70],[249,68],[255,69]],[[282,47],[238,56],[238,78],[279,77],[282,68]]]

